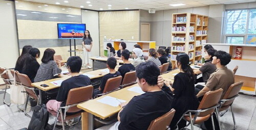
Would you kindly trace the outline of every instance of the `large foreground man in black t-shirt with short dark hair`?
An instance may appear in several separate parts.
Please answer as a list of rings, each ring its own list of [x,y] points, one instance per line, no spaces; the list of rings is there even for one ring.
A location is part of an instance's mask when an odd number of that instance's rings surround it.
[[[154,70],[154,71],[152,71]],[[118,122],[113,126],[99,129],[137,130],[147,129],[151,121],[167,113],[171,109],[173,98],[157,85],[160,70],[152,61],[144,62],[136,67],[137,82],[144,94],[134,96],[118,113]]]

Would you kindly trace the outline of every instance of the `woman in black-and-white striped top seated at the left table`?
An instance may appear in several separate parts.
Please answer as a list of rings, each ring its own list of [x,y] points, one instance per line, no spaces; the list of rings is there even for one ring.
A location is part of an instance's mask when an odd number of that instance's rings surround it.
[[[42,56],[42,63],[37,70],[34,82],[41,82],[46,80],[51,80],[55,76],[61,73],[61,65],[57,60],[57,63],[53,60],[55,51],[54,49],[47,48]]]

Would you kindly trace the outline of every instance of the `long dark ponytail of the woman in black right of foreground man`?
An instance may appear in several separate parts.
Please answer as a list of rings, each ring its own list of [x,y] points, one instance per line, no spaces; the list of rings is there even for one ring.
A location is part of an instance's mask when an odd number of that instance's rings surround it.
[[[189,57],[185,53],[179,53],[176,57],[177,64],[180,63],[181,69],[188,75],[189,82],[195,82],[195,74],[189,66]]]

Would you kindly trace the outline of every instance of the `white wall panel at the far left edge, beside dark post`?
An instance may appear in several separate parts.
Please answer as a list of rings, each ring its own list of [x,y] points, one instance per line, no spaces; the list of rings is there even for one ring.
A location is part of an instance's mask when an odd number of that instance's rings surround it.
[[[14,68],[19,55],[14,2],[0,1],[0,17],[0,66]]]

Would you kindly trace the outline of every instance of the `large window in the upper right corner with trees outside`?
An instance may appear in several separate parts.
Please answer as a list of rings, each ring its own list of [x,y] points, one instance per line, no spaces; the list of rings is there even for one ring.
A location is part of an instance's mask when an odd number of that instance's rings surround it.
[[[226,11],[225,41],[232,44],[256,44],[256,9]]]

